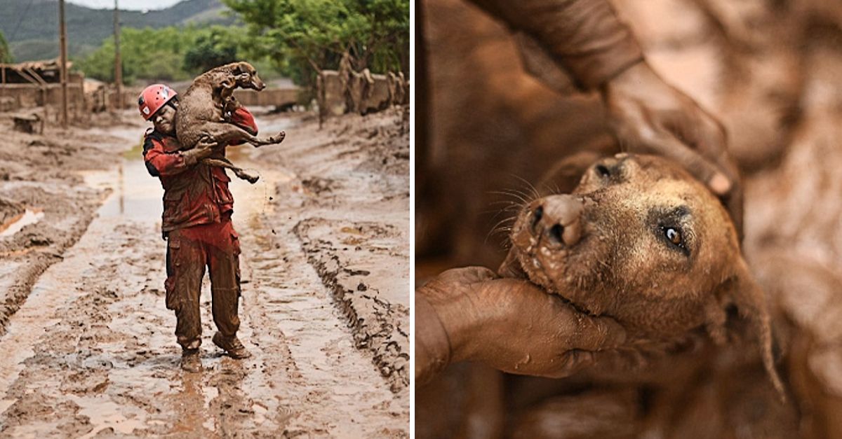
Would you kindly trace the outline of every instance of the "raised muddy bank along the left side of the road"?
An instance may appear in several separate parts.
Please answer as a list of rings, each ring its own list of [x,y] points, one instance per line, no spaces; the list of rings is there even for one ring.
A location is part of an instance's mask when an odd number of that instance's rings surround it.
[[[120,121],[95,120],[94,124]],[[47,267],[81,236],[107,188],[90,188],[77,172],[115,161],[122,140],[86,130],[47,128],[43,135],[12,130],[0,117],[0,335],[10,315]]]

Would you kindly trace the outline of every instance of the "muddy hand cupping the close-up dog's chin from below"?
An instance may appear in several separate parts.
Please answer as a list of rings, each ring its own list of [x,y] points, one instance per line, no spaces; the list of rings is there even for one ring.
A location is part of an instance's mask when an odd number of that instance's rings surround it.
[[[528,281],[497,278],[484,267],[443,272],[416,295],[438,317],[450,341],[450,362],[482,362],[504,372],[561,378],[593,363],[594,352],[626,340],[615,320],[578,313]],[[416,317],[417,325],[429,321]],[[424,342],[416,338],[416,346]],[[424,368],[417,358],[417,377],[424,373],[418,366]]]

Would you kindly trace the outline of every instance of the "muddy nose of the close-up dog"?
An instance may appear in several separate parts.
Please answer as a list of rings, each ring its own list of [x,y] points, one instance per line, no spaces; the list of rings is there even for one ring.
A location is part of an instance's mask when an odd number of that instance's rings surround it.
[[[552,243],[573,246],[582,237],[583,209],[582,201],[572,195],[541,198],[532,210],[532,231]]]

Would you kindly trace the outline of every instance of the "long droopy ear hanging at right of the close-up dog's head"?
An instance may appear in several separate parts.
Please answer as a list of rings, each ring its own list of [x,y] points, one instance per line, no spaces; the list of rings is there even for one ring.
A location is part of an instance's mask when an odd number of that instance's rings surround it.
[[[720,309],[722,309],[722,323],[735,331],[745,331],[759,344],[760,356],[763,359],[763,366],[769,374],[772,385],[785,399],[784,387],[781,378],[775,369],[775,359],[772,356],[772,327],[770,324],[769,311],[766,307],[766,298],[763,289],[760,288],[754,277],[749,272],[742,258],[737,262],[738,269],[733,278],[723,283],[718,292]],[[731,312],[728,312],[728,311]],[[742,320],[744,324],[733,321]],[[711,332],[711,335],[713,333]],[[742,336],[743,334],[740,334]],[[716,336],[714,336],[716,338]]]

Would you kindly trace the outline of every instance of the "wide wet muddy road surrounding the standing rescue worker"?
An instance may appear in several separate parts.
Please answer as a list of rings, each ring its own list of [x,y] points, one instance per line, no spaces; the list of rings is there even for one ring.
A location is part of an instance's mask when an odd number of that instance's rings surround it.
[[[0,142],[0,436],[408,436],[407,114],[255,114],[287,137],[231,154],[261,177],[232,182],[253,357],[210,343],[205,278],[203,373],[179,369],[136,114]]]

